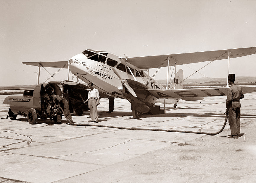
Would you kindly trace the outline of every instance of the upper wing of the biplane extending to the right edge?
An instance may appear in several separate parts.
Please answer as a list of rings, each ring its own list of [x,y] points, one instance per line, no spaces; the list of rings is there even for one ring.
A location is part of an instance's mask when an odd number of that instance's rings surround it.
[[[213,61],[215,59],[216,60],[227,59],[228,51],[231,52],[230,58],[235,58],[235,57],[242,57],[246,55],[255,54],[256,47],[203,51],[203,52],[194,52],[194,53],[179,53],[179,54],[169,54],[169,55],[128,57],[127,61],[140,69],[149,69],[149,68],[160,67],[162,62],[167,57],[170,57],[170,66],[174,66],[175,62],[176,62],[176,65],[183,65],[188,63]],[[165,62],[162,65],[162,67],[166,67],[166,66],[167,66],[167,62]]]

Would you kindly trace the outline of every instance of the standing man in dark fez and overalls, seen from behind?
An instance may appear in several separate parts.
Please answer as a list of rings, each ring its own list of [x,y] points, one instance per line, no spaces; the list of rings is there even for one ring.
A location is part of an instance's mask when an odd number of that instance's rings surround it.
[[[228,74],[228,84],[231,86],[228,89],[226,100],[226,108],[228,112],[228,123],[230,126],[231,135],[228,138],[238,138],[240,133],[240,99],[244,98],[241,86],[234,83],[235,74]]]

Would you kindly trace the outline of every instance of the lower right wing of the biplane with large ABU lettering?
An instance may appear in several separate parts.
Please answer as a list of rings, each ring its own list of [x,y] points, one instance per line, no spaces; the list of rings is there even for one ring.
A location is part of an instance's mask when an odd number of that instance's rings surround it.
[[[242,87],[243,93],[256,92],[256,86]],[[198,100],[199,97],[214,97],[227,95],[228,88],[201,88],[201,89],[175,89],[175,90],[159,90],[148,89],[148,91],[157,98],[165,99],[183,99],[183,100]]]

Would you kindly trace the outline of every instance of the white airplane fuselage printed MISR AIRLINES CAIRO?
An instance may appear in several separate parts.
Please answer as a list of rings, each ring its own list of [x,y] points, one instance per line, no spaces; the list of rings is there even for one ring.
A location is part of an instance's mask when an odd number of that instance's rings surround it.
[[[97,61],[97,57],[99,61]],[[129,74],[128,67],[135,75],[135,79],[143,84],[147,84],[149,89],[164,89],[159,83],[148,76],[144,70],[144,76],[141,77],[138,72],[141,70],[121,60],[117,55],[107,52],[85,50],[83,53],[70,58],[70,71],[82,81],[94,83],[94,87],[109,97],[123,98],[122,84],[120,78],[114,73],[112,67],[120,71],[123,79],[132,79],[134,77]],[[128,71],[127,71],[128,70]],[[137,73],[137,76],[136,76]],[[150,80],[151,79],[151,80]]]

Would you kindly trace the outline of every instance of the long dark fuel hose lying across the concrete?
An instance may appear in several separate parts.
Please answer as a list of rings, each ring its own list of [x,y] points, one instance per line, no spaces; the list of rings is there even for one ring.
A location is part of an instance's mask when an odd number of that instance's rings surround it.
[[[52,109],[57,108],[58,106],[54,106]],[[65,115],[63,109],[59,106],[60,110],[64,114],[65,118],[67,119],[67,116]],[[165,130],[165,129],[152,129],[152,128],[126,128],[126,127],[118,127],[118,126],[107,126],[107,125],[92,125],[92,124],[77,124],[69,119],[67,119],[68,123],[70,125],[76,125],[76,126],[96,126],[96,127],[105,127],[105,128],[117,128],[117,129],[124,129],[124,130],[147,130],[147,131],[162,131],[162,132],[179,132],[179,133],[197,133],[197,134],[205,134],[205,135],[217,135],[220,132],[223,131],[223,129],[226,126],[228,120],[228,114],[226,113],[225,122],[223,124],[223,127],[216,133],[208,133],[208,132],[194,132],[194,131],[183,131],[183,130]]]

